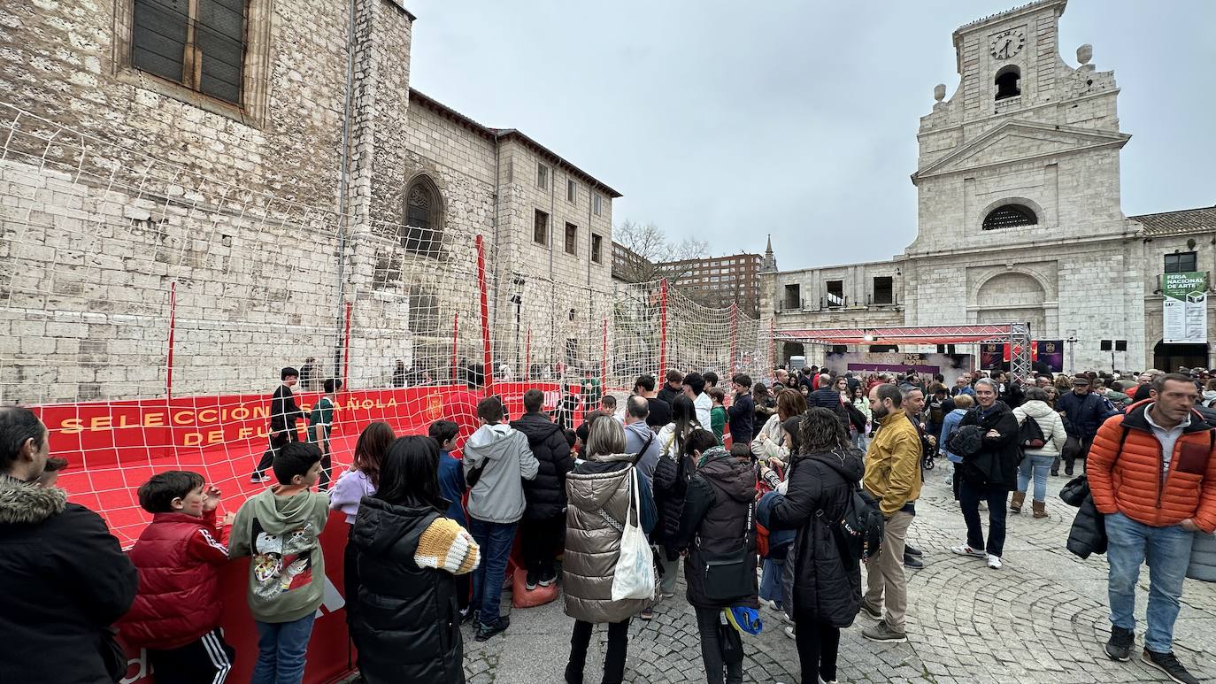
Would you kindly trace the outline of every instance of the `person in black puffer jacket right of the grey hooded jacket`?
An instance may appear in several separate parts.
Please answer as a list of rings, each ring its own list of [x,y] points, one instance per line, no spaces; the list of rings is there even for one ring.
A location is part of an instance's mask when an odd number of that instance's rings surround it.
[[[519,536],[528,570],[527,588],[539,583],[548,587],[557,581],[553,560],[562,548],[565,531],[565,476],[574,469],[570,443],[562,428],[542,413],[545,392],[524,392],[527,413],[511,422],[511,426],[528,437],[528,446],[540,468],[536,477],[524,480],[528,507],[519,521]]]

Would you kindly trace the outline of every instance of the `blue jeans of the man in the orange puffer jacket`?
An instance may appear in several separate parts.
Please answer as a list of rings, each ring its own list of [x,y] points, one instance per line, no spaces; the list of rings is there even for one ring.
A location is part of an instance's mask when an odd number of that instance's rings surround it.
[[[1195,535],[1178,525],[1150,527],[1122,513],[1108,515],[1105,520],[1110,622],[1115,627],[1136,629],[1136,583],[1139,566],[1147,559],[1148,632],[1144,645],[1153,652],[1167,654],[1173,649],[1173,621],[1178,617],[1182,581],[1187,576]]]

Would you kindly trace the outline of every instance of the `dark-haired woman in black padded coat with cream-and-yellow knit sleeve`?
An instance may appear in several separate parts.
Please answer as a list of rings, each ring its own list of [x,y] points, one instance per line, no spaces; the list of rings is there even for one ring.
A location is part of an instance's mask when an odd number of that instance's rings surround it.
[[[456,575],[472,572],[479,549],[444,518],[439,447],[399,437],[381,465],[379,490],[364,498],[351,535],[359,564],[353,632],[368,684],[463,684]]]

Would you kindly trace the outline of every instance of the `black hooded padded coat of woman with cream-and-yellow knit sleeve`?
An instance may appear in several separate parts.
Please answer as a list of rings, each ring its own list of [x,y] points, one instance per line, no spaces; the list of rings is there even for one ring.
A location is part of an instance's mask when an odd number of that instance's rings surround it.
[[[351,635],[370,684],[465,682],[456,578],[413,561],[422,533],[441,515],[375,497],[359,507],[350,539],[360,582]]]

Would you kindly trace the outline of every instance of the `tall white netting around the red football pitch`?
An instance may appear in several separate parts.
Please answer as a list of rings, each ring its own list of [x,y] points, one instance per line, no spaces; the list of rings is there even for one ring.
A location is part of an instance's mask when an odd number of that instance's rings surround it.
[[[309,367],[295,388],[305,411],[323,379],[344,380],[340,471],[372,420],[398,434],[441,417],[472,425],[454,378],[488,357],[490,391],[513,414],[529,386],[552,407],[591,379],[627,391],[660,366],[726,378],[767,363],[756,320],[662,283],[557,282],[492,233],[428,230],[424,211],[413,227],[358,222],[0,115],[0,401],[35,407],[71,462],[61,485],[124,543],[147,519],[135,488],[154,471],[260,488],[249,475],[285,366]],[[411,208],[439,200],[420,192]]]

